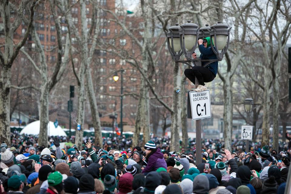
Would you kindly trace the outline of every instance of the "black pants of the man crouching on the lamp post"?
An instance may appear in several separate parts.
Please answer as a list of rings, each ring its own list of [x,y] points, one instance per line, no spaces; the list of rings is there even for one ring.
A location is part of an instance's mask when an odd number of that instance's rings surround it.
[[[215,75],[209,68],[194,66],[192,69],[185,69],[184,74],[186,77],[195,84],[195,77],[198,79],[200,85],[205,85],[204,82],[211,82]]]

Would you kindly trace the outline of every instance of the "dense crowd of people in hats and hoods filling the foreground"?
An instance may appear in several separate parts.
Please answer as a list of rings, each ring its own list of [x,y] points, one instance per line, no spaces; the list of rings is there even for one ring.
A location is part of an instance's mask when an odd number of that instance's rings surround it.
[[[203,141],[202,155],[196,156],[191,141],[175,152],[169,139],[159,138],[119,150],[90,141],[61,148],[63,137],[43,147],[24,137],[0,146],[0,193],[283,194],[291,160],[290,150],[257,144],[236,152],[216,140]]]

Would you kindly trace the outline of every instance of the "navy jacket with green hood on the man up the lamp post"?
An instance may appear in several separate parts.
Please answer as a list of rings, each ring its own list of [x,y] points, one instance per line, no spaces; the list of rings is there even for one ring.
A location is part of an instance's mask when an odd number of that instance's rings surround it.
[[[211,45],[210,45],[210,37],[204,38],[207,40],[207,48],[204,47],[204,45],[199,45],[199,51],[201,52],[200,59],[206,60],[206,59],[217,59],[216,54],[212,51]],[[202,62],[202,66],[208,62]],[[216,76],[217,70],[218,70],[218,62],[210,63],[206,68],[209,68],[209,70]]]

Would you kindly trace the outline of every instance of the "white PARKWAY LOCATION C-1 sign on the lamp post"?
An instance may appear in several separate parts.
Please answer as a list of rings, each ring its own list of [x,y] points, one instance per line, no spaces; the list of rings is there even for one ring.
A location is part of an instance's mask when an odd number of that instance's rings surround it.
[[[189,92],[192,120],[205,119],[211,117],[210,92]]]

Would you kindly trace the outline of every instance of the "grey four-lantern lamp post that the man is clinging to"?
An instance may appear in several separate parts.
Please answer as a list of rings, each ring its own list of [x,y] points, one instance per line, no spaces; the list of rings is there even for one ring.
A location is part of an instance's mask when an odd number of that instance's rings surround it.
[[[199,28],[197,24],[191,23],[191,21],[187,21],[187,23],[182,24],[179,26],[179,24],[175,24],[175,26],[171,26],[169,28],[169,32],[166,32],[167,35],[167,45],[168,45],[168,50],[172,56],[172,59],[176,63],[184,63],[188,65],[189,67],[196,66],[197,68],[207,68],[209,65],[209,70],[210,70],[210,64],[215,62],[217,63],[218,61],[221,61],[223,58],[223,55],[226,53],[228,46],[229,46],[229,32],[231,28],[228,28],[228,25],[222,24],[220,21],[217,22],[217,24],[212,25],[210,28],[206,24],[205,27]],[[205,48],[203,44],[203,40],[209,37],[209,42],[211,45],[211,50],[216,55],[216,59],[214,59],[214,55],[211,55],[211,58],[204,58],[203,51],[205,49],[209,50],[210,52],[210,47],[207,44]],[[199,40],[198,39],[202,39]],[[211,40],[211,41],[210,41]],[[207,40],[206,40],[207,41]],[[199,43],[199,49],[200,53],[202,54],[202,57],[200,55],[200,58],[194,58],[192,59],[192,54],[195,53],[195,49],[197,46],[197,43]],[[207,42],[208,43],[208,42]],[[205,42],[206,44],[206,42]],[[180,60],[181,55],[184,54],[186,57],[186,60]],[[195,55],[194,55],[195,56]],[[193,56],[193,57],[194,57]],[[192,62],[193,65],[190,65],[189,62]],[[214,65],[216,66],[216,65]],[[212,66],[213,67],[213,66]],[[214,67],[215,68],[215,67]],[[194,68],[195,69],[195,68]],[[192,70],[192,69],[190,69]],[[211,71],[212,72],[212,71]],[[212,72],[216,75],[216,72]],[[202,75],[202,73],[200,72]],[[214,76],[215,77],[215,76]],[[199,78],[199,75],[197,74],[193,77],[191,77],[191,82],[194,81],[197,85],[203,85],[204,83],[199,83],[200,82],[207,82],[207,81],[212,81],[212,80],[204,80],[203,75],[202,79],[201,76]],[[197,79],[199,78],[199,80]],[[205,84],[204,84],[205,85]],[[203,85],[203,86],[204,86]],[[198,89],[199,88],[199,89]],[[196,89],[196,92],[201,92],[206,87],[198,87]],[[198,90],[198,91],[197,91]],[[209,91],[208,91],[209,92]],[[188,102],[187,102],[187,116],[188,118],[192,118],[192,111],[191,111],[191,104],[190,104],[190,97],[189,97],[189,92],[188,92]],[[201,159],[201,119],[196,120],[196,165],[199,165],[202,162]]]

